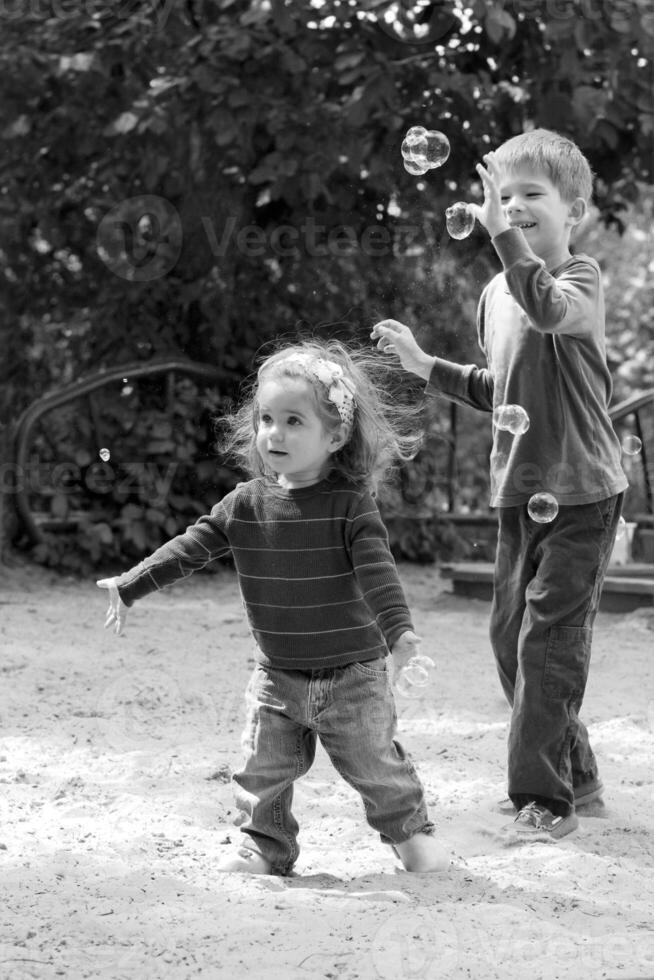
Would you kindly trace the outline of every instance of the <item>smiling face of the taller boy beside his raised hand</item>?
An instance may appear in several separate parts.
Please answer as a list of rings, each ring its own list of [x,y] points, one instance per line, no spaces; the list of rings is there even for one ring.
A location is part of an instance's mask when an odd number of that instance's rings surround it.
[[[527,167],[502,170],[500,197],[507,221],[552,269],[570,255],[570,232],[586,213],[583,198],[565,201],[549,177]]]

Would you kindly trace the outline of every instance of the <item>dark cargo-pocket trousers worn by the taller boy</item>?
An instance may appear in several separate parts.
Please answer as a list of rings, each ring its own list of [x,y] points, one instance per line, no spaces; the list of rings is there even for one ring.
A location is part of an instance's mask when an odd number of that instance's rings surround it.
[[[597,763],[579,720],[593,622],[623,494],[560,507],[537,524],[527,505],[501,508],[490,635],[512,705],[508,789],[566,816],[573,787],[596,781]]]

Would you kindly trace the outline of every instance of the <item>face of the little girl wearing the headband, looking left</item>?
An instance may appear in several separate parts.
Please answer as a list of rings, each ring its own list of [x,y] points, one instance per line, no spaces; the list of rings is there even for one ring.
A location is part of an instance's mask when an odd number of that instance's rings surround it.
[[[322,480],[344,439],[341,430],[325,429],[310,383],[287,376],[264,379],[258,403],[257,451],[278,483],[293,489]]]

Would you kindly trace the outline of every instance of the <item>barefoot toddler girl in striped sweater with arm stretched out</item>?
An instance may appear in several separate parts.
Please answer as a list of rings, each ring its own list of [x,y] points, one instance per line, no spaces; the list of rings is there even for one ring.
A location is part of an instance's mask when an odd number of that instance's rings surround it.
[[[407,871],[449,864],[395,737],[386,658],[390,650],[397,673],[419,641],[372,493],[418,439],[407,432],[410,412],[373,383],[374,357],[333,341],[268,357],[225,420],[223,448],[253,478],[139,565],[97,583],[109,590],[105,626],[120,633],[136,599],[232,553],[257,662],[233,777],[243,843],[222,871],[291,872],[293,783],[317,738]]]

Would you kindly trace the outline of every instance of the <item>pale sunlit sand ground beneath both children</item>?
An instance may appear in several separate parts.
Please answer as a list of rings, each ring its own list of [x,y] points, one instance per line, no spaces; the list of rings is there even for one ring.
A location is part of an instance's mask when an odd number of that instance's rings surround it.
[[[287,879],[219,875],[252,642],[233,574],[102,628],[93,582],[0,579],[0,978],[654,978],[654,611],[600,614],[584,717],[606,785],[558,844],[507,844],[489,606],[401,565],[430,686],[400,737],[451,853],[399,867],[324,753]]]

